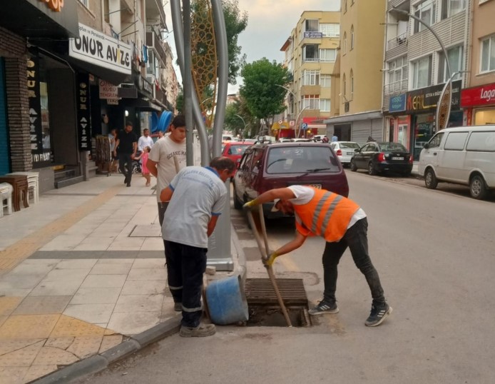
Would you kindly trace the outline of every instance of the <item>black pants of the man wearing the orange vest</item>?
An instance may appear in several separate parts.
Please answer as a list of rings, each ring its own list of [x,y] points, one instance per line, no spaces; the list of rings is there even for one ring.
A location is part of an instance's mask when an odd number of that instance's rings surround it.
[[[359,271],[362,272],[372,293],[373,303],[379,305],[385,302],[382,284],[377,270],[374,268],[368,254],[368,221],[367,218],[354,223],[347,229],[344,237],[337,243],[328,243],[323,252],[323,280],[325,290],[323,300],[327,303],[335,303],[335,290],[337,289],[337,265],[347,247],[351,251],[352,259]]]

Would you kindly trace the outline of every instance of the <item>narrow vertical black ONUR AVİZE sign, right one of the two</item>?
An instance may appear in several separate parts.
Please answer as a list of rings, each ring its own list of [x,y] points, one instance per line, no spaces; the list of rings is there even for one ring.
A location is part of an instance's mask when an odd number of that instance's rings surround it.
[[[77,128],[79,151],[91,150],[91,113],[89,103],[89,76],[77,75]]]

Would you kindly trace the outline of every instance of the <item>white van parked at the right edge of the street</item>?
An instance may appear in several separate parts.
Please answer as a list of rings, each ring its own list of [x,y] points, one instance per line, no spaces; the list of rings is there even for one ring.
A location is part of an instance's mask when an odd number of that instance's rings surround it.
[[[495,188],[495,126],[463,126],[437,132],[419,155],[418,172],[427,188],[439,181],[469,186],[482,199]]]

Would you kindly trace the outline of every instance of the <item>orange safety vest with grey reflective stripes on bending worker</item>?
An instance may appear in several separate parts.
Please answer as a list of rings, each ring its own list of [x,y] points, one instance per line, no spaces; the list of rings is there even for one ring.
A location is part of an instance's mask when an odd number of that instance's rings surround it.
[[[294,204],[297,231],[302,234],[310,231],[330,243],[340,241],[359,206],[337,193],[309,188],[315,191],[315,196],[306,204]]]

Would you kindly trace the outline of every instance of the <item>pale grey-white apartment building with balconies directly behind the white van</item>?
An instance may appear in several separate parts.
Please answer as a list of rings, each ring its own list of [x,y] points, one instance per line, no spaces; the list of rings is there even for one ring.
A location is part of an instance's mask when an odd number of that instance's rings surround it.
[[[460,101],[461,89],[470,76],[466,72],[471,49],[470,3],[471,0],[387,1],[382,106],[386,116],[385,138],[402,143],[414,154],[415,161],[424,143],[437,131],[435,111],[449,79],[449,126],[463,124]]]

